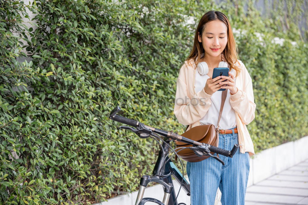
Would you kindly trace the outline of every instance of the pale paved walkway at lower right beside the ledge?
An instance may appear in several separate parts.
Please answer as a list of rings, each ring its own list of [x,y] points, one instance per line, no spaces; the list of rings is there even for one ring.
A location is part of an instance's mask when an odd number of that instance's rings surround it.
[[[308,205],[308,159],[247,187],[245,205],[273,204]]]

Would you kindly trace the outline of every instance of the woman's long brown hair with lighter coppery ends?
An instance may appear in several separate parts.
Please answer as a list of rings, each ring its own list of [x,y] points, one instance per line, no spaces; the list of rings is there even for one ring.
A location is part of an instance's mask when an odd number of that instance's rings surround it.
[[[233,36],[232,28],[229,22],[229,19],[225,16],[225,14],[221,13],[220,11],[208,11],[206,12],[200,19],[199,24],[196,29],[193,49],[191,50],[188,58],[186,59],[187,62],[191,65],[190,60],[193,59],[195,65],[198,65],[201,58],[205,56],[205,50],[203,49],[202,42],[198,41],[198,32],[202,36],[203,30],[208,22],[220,20],[221,22],[225,23],[227,26],[227,35],[228,35],[228,42],[225,49],[222,51],[222,59],[225,60],[230,65],[230,71],[232,69],[236,70],[236,76],[240,73],[240,68],[237,67],[235,64],[238,62],[238,51],[236,47],[236,42]],[[200,57],[200,58],[198,58]],[[198,62],[197,61],[198,58]],[[240,63],[238,62],[238,65]],[[192,66],[192,65],[191,65]],[[197,66],[195,66],[196,69]],[[235,76],[235,77],[236,77]]]

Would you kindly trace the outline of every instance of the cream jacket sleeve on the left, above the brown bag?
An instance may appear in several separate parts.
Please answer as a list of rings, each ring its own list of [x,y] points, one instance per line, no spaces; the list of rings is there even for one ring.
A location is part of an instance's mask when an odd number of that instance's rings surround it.
[[[197,92],[191,99],[188,97],[188,87],[185,80],[185,69],[181,68],[176,81],[176,97],[174,103],[174,114],[179,123],[190,125],[205,116],[211,107],[211,96],[204,89]]]

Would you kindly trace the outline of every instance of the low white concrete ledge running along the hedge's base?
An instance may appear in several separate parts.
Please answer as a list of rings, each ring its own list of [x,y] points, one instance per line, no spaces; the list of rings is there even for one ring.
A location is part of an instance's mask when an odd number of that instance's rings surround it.
[[[263,150],[254,159],[250,158],[250,172],[247,187],[256,184],[263,179],[266,179],[278,172],[292,167],[308,158],[308,136],[298,139],[294,142],[281,144],[267,150]],[[188,176],[185,178],[189,181]],[[176,194],[179,191],[180,185],[173,180]],[[116,196],[109,199],[107,202],[96,203],[95,205],[135,205],[138,191],[128,193],[126,195]],[[161,185],[147,187],[144,192],[144,197],[156,198],[163,200],[164,191]],[[215,205],[220,205],[221,192],[218,188]],[[190,204],[190,197],[181,189],[179,203]],[[153,203],[149,203],[153,204]]]

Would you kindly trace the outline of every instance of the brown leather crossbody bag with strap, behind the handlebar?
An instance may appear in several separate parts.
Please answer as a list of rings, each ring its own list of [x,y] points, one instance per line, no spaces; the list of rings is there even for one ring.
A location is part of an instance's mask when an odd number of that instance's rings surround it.
[[[210,144],[215,147],[218,147],[219,145],[219,121],[220,121],[221,113],[224,108],[225,100],[227,97],[227,91],[228,90],[225,89],[224,91],[222,91],[222,94],[221,94],[221,107],[220,107],[220,112],[219,112],[219,117],[218,117],[218,122],[217,122],[217,128],[215,128],[213,124],[199,125],[199,126],[191,128],[188,131],[185,131],[182,134],[183,137],[198,141],[200,143],[206,143],[206,144]],[[188,126],[186,127],[186,130],[188,129]],[[176,148],[179,148],[179,147],[184,148],[184,147],[191,147],[191,146],[192,146],[191,144],[176,141]],[[180,158],[187,162],[200,162],[210,157],[209,155],[203,155],[201,157],[198,157],[190,149],[180,149],[179,148],[177,150],[180,150],[177,152]],[[214,155],[213,152],[211,152],[211,154]],[[175,160],[177,160],[177,156]]]

